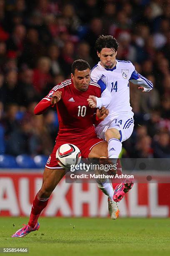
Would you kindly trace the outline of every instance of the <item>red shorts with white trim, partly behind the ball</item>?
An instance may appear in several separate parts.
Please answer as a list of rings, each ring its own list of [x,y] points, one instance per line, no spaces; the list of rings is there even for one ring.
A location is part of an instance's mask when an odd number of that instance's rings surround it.
[[[56,143],[55,143],[55,146],[53,148],[53,151],[52,151],[52,154],[50,154],[48,160],[47,160],[47,163],[45,165],[45,167],[49,168],[49,169],[60,169],[62,167],[60,167],[57,163],[57,160],[56,160],[56,151],[57,149],[62,145],[62,144],[65,144],[65,143],[71,143],[75,146],[77,146],[79,149],[80,149],[80,152],[81,152],[81,156],[82,158],[88,158],[88,155],[90,153],[90,151],[92,150],[92,148],[100,143],[104,141],[103,139],[100,139],[98,138],[97,136],[94,137],[94,138],[90,138],[90,139],[87,139],[87,140],[75,140],[75,139],[72,139],[71,141],[69,140],[62,140],[62,139],[57,139]]]

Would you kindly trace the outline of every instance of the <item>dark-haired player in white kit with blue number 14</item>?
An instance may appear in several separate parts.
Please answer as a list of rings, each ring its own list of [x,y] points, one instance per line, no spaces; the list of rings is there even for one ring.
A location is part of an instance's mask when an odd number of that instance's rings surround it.
[[[100,61],[92,68],[91,79],[100,84],[101,88],[106,86],[112,95],[112,100],[107,106],[109,115],[96,126],[95,131],[98,137],[107,141],[109,158],[117,159],[122,142],[131,136],[134,127],[129,81],[137,84],[138,89],[142,89],[143,92],[152,90],[153,83],[140,75],[130,61],[116,59],[118,43],[113,36],[99,36],[95,49]],[[88,101],[89,105],[95,108],[96,98],[90,95]],[[124,181],[117,184],[115,191],[108,181],[105,184],[98,184],[98,187],[114,205],[114,201],[119,202],[133,187],[133,182],[130,181],[128,184]],[[111,214],[110,212],[110,216]]]

